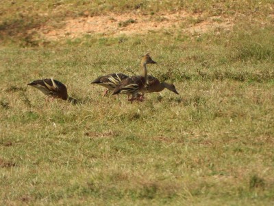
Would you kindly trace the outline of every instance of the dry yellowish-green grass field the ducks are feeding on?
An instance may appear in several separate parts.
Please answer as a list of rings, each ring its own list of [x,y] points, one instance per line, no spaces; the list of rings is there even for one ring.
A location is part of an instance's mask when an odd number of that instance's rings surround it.
[[[63,12],[53,12],[59,17],[29,24],[26,17],[19,27],[19,13],[32,8],[25,15],[32,16],[35,2],[5,4],[1,12],[1,205],[273,205],[273,1],[178,7],[246,15],[232,30],[90,34],[47,45],[29,42],[27,30],[45,21],[61,27],[62,18],[86,7],[60,1]],[[47,2],[42,12],[54,8]],[[133,1],[105,2],[90,12],[136,9]],[[144,2],[152,3],[137,3]],[[172,10],[171,1],[163,2],[142,12]],[[158,62],[149,73],[173,82],[179,95],[164,90],[130,104],[123,95],[103,98],[104,89],[90,84],[104,73],[140,73],[147,52]],[[45,102],[27,87],[51,76],[79,104]]]

